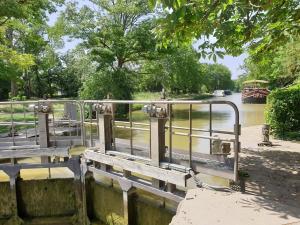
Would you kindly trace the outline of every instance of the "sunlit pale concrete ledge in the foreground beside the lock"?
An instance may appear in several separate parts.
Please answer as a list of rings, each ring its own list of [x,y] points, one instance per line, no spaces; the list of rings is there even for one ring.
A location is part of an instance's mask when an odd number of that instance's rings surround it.
[[[300,224],[300,208],[261,196],[189,190],[170,225],[287,225]]]

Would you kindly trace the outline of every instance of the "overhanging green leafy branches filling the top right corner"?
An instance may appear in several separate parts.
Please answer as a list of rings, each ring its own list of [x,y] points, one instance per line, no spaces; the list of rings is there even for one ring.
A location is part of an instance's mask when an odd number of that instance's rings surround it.
[[[222,57],[220,49],[239,55],[245,45],[252,54],[266,52],[300,33],[298,0],[149,0],[155,2],[165,9],[155,29],[161,46],[201,38],[203,56]]]

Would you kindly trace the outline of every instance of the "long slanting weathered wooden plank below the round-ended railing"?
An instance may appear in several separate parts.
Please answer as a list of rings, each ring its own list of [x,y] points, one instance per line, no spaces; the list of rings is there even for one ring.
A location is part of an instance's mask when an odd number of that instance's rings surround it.
[[[116,156],[101,154],[91,150],[86,150],[84,157],[86,159],[97,161],[106,165],[117,166],[123,170],[128,170],[144,176],[166,181],[171,184],[176,184],[181,187],[186,187],[186,179],[189,176],[188,173],[166,170],[140,162],[118,158]]]

